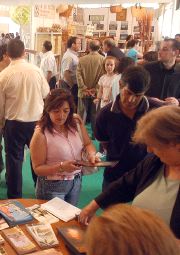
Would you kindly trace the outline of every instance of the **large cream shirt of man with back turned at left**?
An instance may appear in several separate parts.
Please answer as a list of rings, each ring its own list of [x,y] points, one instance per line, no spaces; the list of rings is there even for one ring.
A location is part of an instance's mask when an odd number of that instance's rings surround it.
[[[40,119],[49,85],[41,70],[24,59],[13,60],[0,73],[0,128],[4,120]]]

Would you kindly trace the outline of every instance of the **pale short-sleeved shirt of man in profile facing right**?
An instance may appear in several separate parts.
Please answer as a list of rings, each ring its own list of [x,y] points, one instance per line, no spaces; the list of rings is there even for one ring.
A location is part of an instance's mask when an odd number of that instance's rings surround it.
[[[73,83],[77,84],[76,69],[78,63],[79,63],[78,53],[71,49],[67,49],[61,61],[61,79],[65,80],[64,72],[69,70],[71,72],[71,79]]]

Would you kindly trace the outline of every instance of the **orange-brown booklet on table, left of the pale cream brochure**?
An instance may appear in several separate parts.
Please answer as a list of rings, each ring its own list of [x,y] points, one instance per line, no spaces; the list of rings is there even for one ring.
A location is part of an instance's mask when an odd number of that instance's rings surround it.
[[[18,254],[27,254],[37,250],[36,245],[19,227],[4,229],[2,233]]]

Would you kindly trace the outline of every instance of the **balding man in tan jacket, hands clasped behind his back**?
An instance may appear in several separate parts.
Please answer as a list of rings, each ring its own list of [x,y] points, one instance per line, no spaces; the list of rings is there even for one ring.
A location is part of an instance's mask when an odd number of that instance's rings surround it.
[[[103,74],[104,57],[98,53],[100,42],[92,40],[89,43],[90,53],[79,59],[77,66],[77,83],[78,83],[78,113],[86,123],[87,113],[94,130],[94,121],[96,106],[93,99],[96,96],[99,78]]]

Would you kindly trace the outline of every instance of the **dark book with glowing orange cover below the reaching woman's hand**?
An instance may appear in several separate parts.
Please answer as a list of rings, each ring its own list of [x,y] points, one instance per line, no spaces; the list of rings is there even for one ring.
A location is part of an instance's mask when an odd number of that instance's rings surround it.
[[[84,242],[85,230],[79,226],[64,226],[58,228],[58,232],[66,246],[76,255],[86,254]]]

